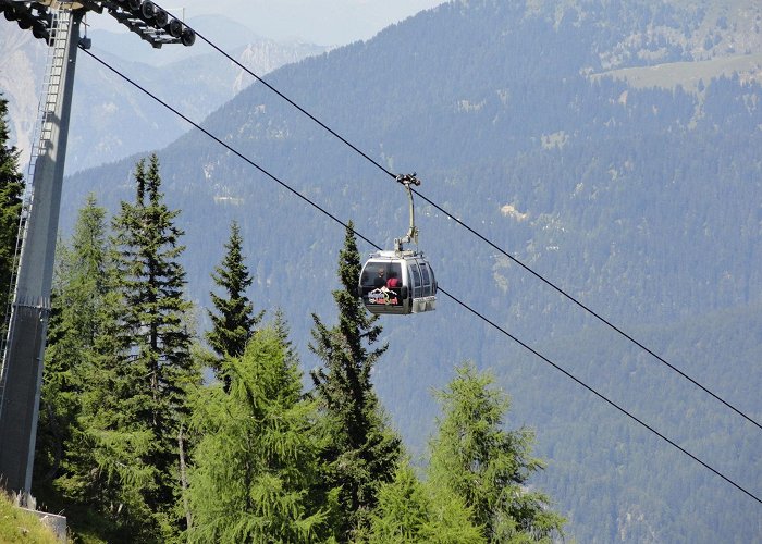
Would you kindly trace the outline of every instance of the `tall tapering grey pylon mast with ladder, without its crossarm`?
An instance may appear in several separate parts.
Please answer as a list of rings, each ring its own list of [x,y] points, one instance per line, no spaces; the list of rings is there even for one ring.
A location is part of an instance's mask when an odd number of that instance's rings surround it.
[[[21,259],[2,366],[0,474],[13,491],[32,487],[32,468],[42,355],[50,311],[50,285],[61,207],[74,67],[84,10],[61,10],[53,17],[53,54],[44,101],[44,120],[24,213]]]

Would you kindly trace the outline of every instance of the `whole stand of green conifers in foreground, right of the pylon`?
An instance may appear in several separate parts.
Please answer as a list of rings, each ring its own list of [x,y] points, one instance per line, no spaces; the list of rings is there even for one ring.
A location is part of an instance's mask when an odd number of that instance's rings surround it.
[[[248,298],[237,223],[210,273],[212,326],[200,334],[179,262],[181,210],[164,202],[158,158],[140,160],[134,178],[134,201],[111,221],[89,196],[59,247],[33,490],[67,514],[76,541],[455,544],[563,534],[550,497],[527,486],[544,466],[531,453],[533,433],[504,429],[508,399],[472,363],[438,394],[425,478],[410,463],[370,380],[388,344],[356,294],[352,225],[333,292],[339,323],[312,314],[310,350],[322,364],[305,391],[283,314],[271,309],[263,321]]]

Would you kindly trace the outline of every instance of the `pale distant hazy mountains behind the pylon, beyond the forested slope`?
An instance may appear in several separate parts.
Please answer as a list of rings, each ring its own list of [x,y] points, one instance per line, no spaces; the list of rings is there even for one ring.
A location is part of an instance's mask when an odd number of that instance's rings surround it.
[[[295,40],[265,39],[221,16],[188,23],[219,37],[219,47],[260,76],[325,50]],[[127,32],[94,30],[89,37],[93,53],[163,99],[181,103],[197,121],[254,81],[233,63],[220,62],[219,54],[200,39],[190,48],[176,45],[157,50]],[[5,52],[0,57],[0,90],[9,99],[15,145],[26,163],[48,48],[10,23],[0,25],[0,48]],[[75,77],[67,172],[164,146],[188,128],[181,120],[162,120],[161,108],[151,99],[125,88],[118,76],[85,53],[78,54]]]

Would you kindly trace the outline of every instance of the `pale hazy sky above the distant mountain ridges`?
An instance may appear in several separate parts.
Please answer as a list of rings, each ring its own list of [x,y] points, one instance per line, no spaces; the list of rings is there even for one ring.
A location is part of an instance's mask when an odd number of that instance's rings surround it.
[[[266,38],[302,38],[319,45],[344,45],[376,33],[445,0],[156,0],[175,15],[223,14]],[[102,20],[91,17],[94,27]],[[200,32],[200,29],[199,29]]]

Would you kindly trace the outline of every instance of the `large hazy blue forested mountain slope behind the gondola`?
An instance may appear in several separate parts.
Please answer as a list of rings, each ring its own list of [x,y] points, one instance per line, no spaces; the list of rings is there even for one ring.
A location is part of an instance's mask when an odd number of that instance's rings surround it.
[[[268,81],[392,172],[416,171],[427,198],[760,421],[757,74],[644,88],[597,76],[760,53],[750,23],[759,17],[751,1],[458,1]],[[262,85],[204,126],[377,244],[407,228],[392,178]],[[251,298],[285,310],[304,363],[314,364],[304,349],[309,314],[332,312],[343,227],[198,132],[159,156],[167,200],[183,210],[193,296],[207,304],[236,219],[256,276]],[[110,207],[126,198],[133,164],[66,180],[64,225],[87,191]],[[759,428],[417,203],[421,249],[442,287],[762,493]],[[762,533],[759,503],[447,297],[437,312],[383,324],[391,347],[376,382],[407,442],[423,445],[430,387],[455,363],[493,367],[514,397],[513,423],[537,429],[549,459],[541,485],[580,542]]]

